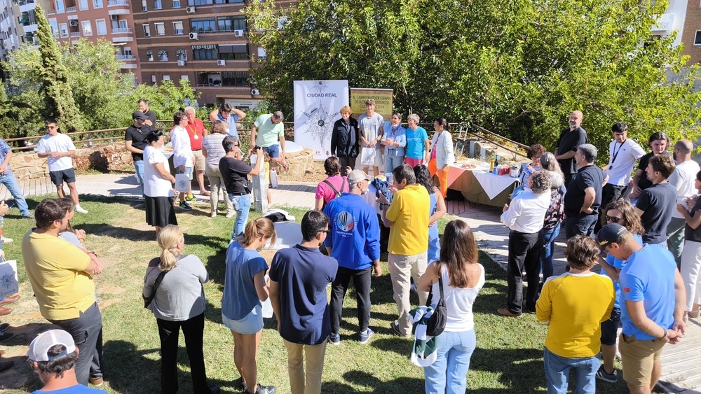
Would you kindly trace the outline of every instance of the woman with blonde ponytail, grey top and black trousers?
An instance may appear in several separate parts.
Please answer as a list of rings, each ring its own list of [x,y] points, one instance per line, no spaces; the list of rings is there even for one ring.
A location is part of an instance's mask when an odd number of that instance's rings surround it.
[[[149,262],[144,276],[144,300],[156,316],[161,337],[161,393],[177,393],[177,349],[180,329],[190,359],[194,393],[219,393],[207,384],[202,350],[205,329],[205,291],[209,275],[196,255],[183,255],[185,237],[177,225],[167,225],[158,233],[161,256]]]

